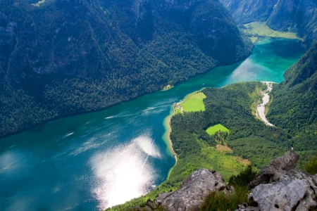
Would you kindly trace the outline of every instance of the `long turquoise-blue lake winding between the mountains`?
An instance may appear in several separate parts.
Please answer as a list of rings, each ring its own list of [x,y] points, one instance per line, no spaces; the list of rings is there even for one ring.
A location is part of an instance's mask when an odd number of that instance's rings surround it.
[[[0,139],[0,210],[101,210],[147,193],[175,164],[163,139],[174,102],[204,87],[282,82],[305,51],[295,40],[262,38],[242,63]]]

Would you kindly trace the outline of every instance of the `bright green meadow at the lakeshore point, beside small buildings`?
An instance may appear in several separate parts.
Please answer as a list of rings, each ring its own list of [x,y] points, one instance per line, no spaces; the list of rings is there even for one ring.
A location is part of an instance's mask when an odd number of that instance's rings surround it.
[[[201,91],[197,91],[186,96],[184,103],[181,103],[181,106],[186,112],[204,111],[204,98],[206,98],[206,95]]]

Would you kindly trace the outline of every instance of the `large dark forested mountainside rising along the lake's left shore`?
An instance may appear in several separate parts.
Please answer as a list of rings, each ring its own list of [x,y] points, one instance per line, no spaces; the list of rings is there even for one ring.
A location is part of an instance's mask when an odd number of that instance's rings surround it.
[[[216,0],[0,2],[0,137],[234,63],[251,42]]]

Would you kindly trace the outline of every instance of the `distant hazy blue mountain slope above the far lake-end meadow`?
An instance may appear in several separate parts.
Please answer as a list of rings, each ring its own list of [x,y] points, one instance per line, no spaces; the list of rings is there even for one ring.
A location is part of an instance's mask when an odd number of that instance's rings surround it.
[[[306,41],[317,37],[316,0],[220,0],[237,23],[266,22],[273,30],[296,32]]]

